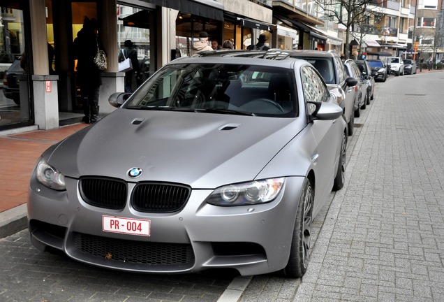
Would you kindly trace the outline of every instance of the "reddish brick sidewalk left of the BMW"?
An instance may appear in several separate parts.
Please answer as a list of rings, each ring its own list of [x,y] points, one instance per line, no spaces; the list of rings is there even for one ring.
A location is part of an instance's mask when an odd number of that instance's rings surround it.
[[[72,124],[53,130],[0,136],[0,212],[27,203],[29,178],[43,151],[87,126]]]

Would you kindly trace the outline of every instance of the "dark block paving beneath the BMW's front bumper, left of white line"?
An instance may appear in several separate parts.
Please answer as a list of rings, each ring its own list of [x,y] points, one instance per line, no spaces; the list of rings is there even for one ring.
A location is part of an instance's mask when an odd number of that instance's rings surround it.
[[[216,302],[232,273],[186,275],[122,273],[40,252],[27,230],[0,240],[2,302]]]

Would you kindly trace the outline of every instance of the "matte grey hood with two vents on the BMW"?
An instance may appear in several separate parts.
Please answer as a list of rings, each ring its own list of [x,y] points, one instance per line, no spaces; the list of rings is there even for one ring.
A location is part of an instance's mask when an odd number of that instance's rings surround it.
[[[103,175],[214,188],[253,180],[305,127],[300,118],[121,108],[60,143],[48,162],[67,177]],[[270,175],[270,177],[281,175]]]

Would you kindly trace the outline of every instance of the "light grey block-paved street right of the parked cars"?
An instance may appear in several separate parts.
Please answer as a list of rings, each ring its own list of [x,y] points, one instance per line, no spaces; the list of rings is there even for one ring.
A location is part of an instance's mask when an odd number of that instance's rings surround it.
[[[444,72],[376,85],[306,275],[255,276],[240,301],[444,301]]]

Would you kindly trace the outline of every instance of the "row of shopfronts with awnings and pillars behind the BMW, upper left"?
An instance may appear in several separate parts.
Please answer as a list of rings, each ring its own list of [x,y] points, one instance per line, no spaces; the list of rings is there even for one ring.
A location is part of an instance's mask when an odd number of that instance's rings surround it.
[[[0,1],[0,131],[53,129],[61,115],[82,113],[73,41],[84,17],[98,20],[108,57],[102,73],[99,113],[111,113],[108,96],[124,92],[118,55],[131,40],[140,80],[164,64],[191,55],[200,31],[236,49],[256,44],[282,50],[339,47],[341,38],[322,25],[316,1],[305,0],[3,0]],[[132,89],[140,84],[132,81]]]

